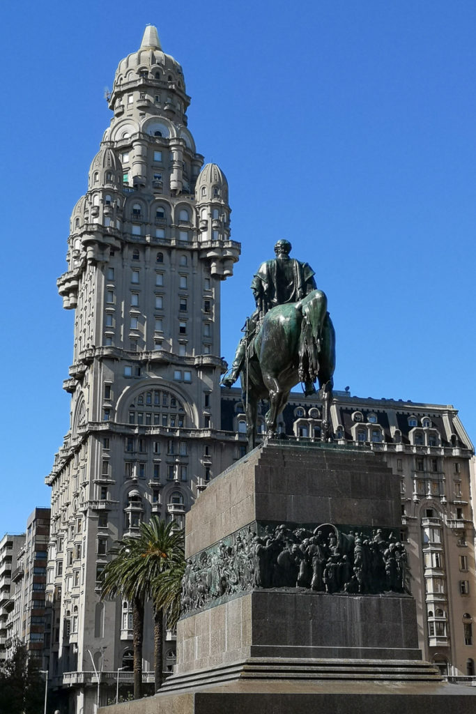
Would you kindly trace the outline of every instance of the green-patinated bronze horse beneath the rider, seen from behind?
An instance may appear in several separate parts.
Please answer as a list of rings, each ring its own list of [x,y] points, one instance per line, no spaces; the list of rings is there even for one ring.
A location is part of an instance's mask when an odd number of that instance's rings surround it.
[[[299,382],[312,383],[316,379],[324,403],[321,439],[327,441],[334,369],[335,331],[322,291],[313,290],[297,303],[285,303],[268,311],[248,344],[241,371],[248,449],[256,444],[258,401],[269,401],[265,421],[268,436],[274,436],[291,389]]]

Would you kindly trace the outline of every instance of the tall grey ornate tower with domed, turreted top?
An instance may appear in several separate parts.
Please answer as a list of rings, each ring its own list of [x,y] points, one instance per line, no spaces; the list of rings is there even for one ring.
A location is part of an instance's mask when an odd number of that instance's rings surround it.
[[[221,431],[218,384],[221,281],[240,244],[226,177],[202,168],[187,127],[189,103],[180,64],[148,26],[118,65],[113,118],[58,281],[75,317],[71,425],[46,479],[50,677],[84,714],[96,692],[91,660],[113,673],[131,658],[128,603],[98,593],[111,545],[153,513],[181,523],[238,451],[238,436]],[[144,658],[151,670],[151,642]]]

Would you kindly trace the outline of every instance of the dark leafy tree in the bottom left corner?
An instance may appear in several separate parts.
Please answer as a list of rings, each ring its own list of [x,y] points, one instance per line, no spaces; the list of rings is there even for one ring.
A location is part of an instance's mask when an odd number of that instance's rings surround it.
[[[0,712],[36,714],[43,710],[44,679],[25,645],[17,643],[0,664]]]

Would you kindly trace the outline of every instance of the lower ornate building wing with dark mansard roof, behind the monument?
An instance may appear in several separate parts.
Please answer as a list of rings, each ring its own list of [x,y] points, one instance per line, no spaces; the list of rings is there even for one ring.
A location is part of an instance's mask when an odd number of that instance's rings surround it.
[[[293,393],[278,427],[304,443],[319,440],[321,416],[314,398]],[[331,416],[336,443],[383,453],[400,478],[401,538],[424,658],[449,678],[474,677],[474,447],[457,410],[336,392]],[[245,429],[238,389],[223,391],[222,428]]]

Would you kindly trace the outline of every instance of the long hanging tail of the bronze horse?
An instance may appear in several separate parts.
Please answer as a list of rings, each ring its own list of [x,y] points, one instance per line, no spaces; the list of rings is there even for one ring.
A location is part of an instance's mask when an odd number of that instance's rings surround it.
[[[313,290],[300,301],[300,311],[303,315],[298,348],[301,382],[315,382],[318,378],[323,321],[327,309],[327,298],[320,290]]]

